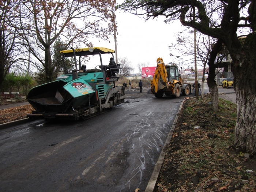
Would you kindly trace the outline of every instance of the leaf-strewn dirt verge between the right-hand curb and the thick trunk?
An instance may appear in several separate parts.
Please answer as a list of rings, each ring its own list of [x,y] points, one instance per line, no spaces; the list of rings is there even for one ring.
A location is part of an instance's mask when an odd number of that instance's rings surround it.
[[[256,158],[231,147],[236,104],[219,98],[215,113],[210,101],[184,101],[156,192],[256,192]]]

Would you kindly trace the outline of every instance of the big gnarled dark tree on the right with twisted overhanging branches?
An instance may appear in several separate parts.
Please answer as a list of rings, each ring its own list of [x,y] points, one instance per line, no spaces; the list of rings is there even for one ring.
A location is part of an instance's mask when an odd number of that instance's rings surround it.
[[[179,19],[217,39],[209,55],[208,87],[218,99],[214,80],[215,58],[227,47],[233,60],[234,88],[237,95],[235,148],[256,153],[256,0],[127,0],[120,8],[145,19],[163,15],[166,22]],[[240,36],[246,36],[240,39]],[[217,110],[213,106],[214,110]]]

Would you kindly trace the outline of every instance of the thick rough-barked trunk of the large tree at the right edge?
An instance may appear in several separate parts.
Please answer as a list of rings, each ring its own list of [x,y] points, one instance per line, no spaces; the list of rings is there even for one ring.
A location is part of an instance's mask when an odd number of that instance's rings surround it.
[[[248,35],[244,54],[234,60],[234,87],[237,97],[237,123],[234,148],[256,153],[256,34]],[[242,59],[240,59],[242,58]],[[240,59],[240,60],[239,60]]]

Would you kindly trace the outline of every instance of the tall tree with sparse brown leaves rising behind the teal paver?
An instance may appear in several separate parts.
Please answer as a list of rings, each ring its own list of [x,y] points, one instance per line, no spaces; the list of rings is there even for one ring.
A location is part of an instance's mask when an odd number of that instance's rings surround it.
[[[18,29],[27,49],[45,68],[46,80],[53,80],[56,62],[51,47],[60,37],[66,48],[93,45],[90,37],[108,40],[115,1],[108,0],[24,0],[20,2]],[[78,48],[78,47],[75,47]]]

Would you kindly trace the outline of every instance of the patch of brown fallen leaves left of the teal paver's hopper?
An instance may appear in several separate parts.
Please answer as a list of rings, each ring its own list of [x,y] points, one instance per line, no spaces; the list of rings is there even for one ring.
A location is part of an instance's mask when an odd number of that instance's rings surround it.
[[[27,118],[27,113],[31,113],[33,110],[31,105],[0,110],[0,124]]]

